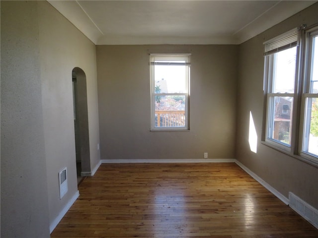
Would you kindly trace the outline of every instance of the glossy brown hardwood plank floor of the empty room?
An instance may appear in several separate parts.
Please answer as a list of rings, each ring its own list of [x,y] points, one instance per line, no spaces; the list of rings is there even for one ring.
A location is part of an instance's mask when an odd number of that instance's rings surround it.
[[[102,164],[51,238],[318,238],[234,163]]]

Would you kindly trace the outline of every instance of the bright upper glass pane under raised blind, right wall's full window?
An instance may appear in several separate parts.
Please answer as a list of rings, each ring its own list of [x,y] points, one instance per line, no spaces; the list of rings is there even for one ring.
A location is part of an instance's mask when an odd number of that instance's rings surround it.
[[[272,93],[294,93],[297,47],[274,54]]]

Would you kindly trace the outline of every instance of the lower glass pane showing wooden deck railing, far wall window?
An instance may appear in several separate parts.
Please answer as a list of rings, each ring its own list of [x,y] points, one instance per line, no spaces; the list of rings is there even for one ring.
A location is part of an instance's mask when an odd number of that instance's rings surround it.
[[[185,95],[155,96],[155,127],[185,127]]]

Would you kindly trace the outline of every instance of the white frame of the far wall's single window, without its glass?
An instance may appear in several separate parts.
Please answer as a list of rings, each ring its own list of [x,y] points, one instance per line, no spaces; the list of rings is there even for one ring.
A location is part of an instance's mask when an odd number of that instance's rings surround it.
[[[190,130],[189,126],[189,97],[190,97],[190,58],[191,54],[150,54],[150,97],[151,97],[151,131],[188,131]],[[186,85],[184,93],[156,93],[155,92],[155,61],[156,60],[185,60],[185,63],[178,62],[160,62],[161,65],[186,65]],[[155,117],[155,102],[156,96],[185,96],[185,123],[184,126],[156,126],[156,117]]]

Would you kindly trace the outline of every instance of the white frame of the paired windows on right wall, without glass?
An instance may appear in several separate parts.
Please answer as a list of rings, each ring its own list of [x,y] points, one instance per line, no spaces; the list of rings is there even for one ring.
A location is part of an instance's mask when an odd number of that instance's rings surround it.
[[[280,50],[287,49],[287,45],[281,46],[279,49],[270,49],[270,53],[266,54],[266,44],[271,42],[275,43],[277,39],[283,39],[282,36],[287,35],[291,32],[295,32],[293,29],[283,35],[280,35],[270,41],[265,42],[265,61],[264,61],[264,114],[263,114],[263,129],[261,143],[279,150],[287,155],[304,161],[308,164],[318,167],[318,155],[309,153],[306,151],[308,149],[308,138],[309,127],[311,118],[307,117],[308,114],[308,101],[311,98],[318,98],[318,93],[311,92],[311,73],[312,73],[312,54],[313,54],[313,38],[318,36],[318,25],[312,26],[306,29],[306,25],[302,25],[299,29],[299,39],[297,41],[297,59],[296,59],[296,77],[295,77],[295,87],[294,93],[284,93],[277,94],[272,93],[271,90],[271,71],[272,64],[270,55],[273,52],[278,52]],[[290,44],[290,42],[288,43]],[[295,44],[295,43],[293,43]],[[290,45],[291,47],[292,45]],[[286,145],[280,141],[268,138],[268,124],[269,124],[269,107],[270,107],[270,97],[282,96],[289,97],[293,96],[293,112],[291,114],[291,144]]]

